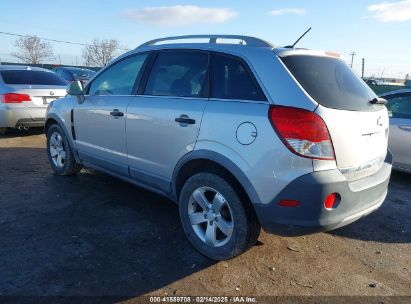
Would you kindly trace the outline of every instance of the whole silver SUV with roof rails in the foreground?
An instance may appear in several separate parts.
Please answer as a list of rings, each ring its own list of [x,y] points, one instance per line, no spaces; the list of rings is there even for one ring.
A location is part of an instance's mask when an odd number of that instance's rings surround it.
[[[212,259],[241,254],[260,227],[341,227],[387,195],[384,100],[335,53],[170,37],[68,94],[47,113],[54,171],[84,165],[172,199],[188,239]]]

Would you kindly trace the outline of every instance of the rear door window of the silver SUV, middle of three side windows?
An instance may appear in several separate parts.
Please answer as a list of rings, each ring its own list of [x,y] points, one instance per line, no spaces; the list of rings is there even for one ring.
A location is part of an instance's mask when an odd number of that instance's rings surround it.
[[[206,96],[208,54],[187,51],[159,53],[147,81],[145,95]]]

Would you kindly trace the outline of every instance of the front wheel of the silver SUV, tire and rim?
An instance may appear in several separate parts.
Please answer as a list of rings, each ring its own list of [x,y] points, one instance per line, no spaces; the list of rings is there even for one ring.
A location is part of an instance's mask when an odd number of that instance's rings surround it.
[[[58,175],[73,175],[81,170],[63,130],[57,124],[47,130],[47,156]]]

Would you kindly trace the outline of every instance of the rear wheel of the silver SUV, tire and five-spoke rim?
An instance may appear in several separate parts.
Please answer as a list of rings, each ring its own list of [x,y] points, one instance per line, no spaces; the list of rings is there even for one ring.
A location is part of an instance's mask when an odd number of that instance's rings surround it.
[[[180,193],[184,232],[200,253],[213,260],[242,254],[260,235],[254,209],[233,184],[223,174],[202,172],[190,177]]]

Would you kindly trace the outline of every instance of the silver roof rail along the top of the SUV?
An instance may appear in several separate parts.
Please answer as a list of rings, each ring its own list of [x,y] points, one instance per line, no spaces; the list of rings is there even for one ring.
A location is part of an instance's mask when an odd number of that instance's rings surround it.
[[[254,47],[274,47],[271,43],[264,41],[259,38],[251,37],[251,36],[242,36],[242,35],[186,35],[186,36],[173,36],[173,37],[165,37],[165,38],[158,38],[154,40],[150,40],[146,43],[143,43],[138,48],[153,46],[159,42],[169,41],[169,40],[184,40],[184,39],[209,39],[208,43],[217,43],[217,39],[238,39],[241,42],[244,42],[246,46],[254,46]],[[240,44],[242,44],[240,42]]]

